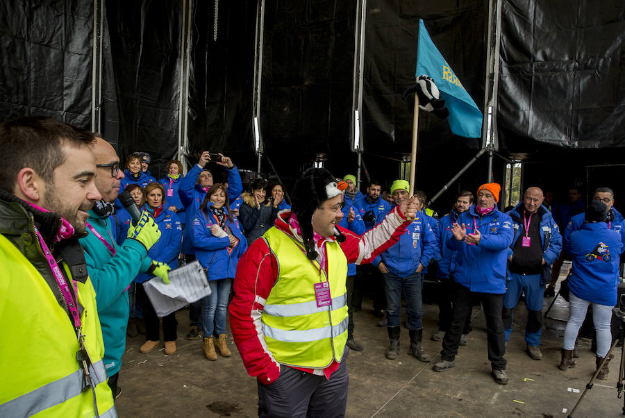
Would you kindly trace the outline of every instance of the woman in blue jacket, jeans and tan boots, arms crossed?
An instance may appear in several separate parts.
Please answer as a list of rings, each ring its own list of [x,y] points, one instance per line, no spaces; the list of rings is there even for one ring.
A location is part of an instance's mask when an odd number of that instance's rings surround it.
[[[247,241],[232,215],[226,186],[216,183],[206,193],[192,222],[195,257],[201,263],[211,293],[203,299],[204,355],[217,360],[215,345],[223,357],[232,355],[226,344],[226,308],[239,258]],[[213,333],[219,336],[213,344]]]

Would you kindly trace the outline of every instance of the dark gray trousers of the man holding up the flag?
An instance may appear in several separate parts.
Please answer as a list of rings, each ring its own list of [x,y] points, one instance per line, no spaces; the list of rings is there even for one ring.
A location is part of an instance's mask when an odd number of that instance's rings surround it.
[[[347,353],[330,376],[317,376],[282,365],[269,385],[258,382],[258,417],[344,417],[347,408]]]

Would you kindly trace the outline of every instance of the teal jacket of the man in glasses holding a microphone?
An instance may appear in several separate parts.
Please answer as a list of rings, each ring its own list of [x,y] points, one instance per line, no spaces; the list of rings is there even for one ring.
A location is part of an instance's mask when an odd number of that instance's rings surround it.
[[[89,211],[89,223],[110,244],[115,246],[115,256],[92,233],[80,239],[85,249],[89,277],[96,292],[98,316],[104,339],[104,367],[108,376],[119,371],[126,347],[128,325],[128,292],[126,288],[140,272],[147,271],[151,260],[143,244],[137,240],[124,240],[121,246],[110,234],[110,221]],[[89,230],[87,230],[89,231]]]

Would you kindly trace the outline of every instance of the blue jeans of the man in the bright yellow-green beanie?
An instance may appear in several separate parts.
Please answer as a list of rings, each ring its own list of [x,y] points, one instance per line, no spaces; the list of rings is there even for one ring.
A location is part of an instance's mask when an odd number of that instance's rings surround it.
[[[399,277],[388,272],[384,275],[386,291],[386,326],[399,326],[401,310],[401,290],[406,297],[406,324],[408,329],[423,328],[423,274],[412,273]]]

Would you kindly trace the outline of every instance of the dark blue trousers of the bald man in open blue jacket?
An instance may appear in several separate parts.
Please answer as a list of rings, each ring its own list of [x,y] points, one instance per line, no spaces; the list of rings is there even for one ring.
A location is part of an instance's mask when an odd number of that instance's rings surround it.
[[[515,306],[519,303],[521,292],[525,291],[527,306],[527,324],[525,326],[525,342],[527,345],[539,346],[542,335],[542,301],[544,287],[541,285],[542,274],[519,274],[508,271],[510,280],[506,281],[506,294],[503,295],[503,333],[506,342],[512,333],[512,316]]]

